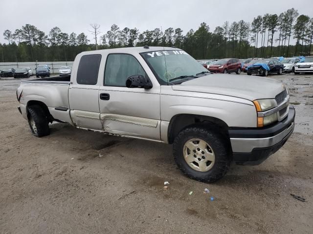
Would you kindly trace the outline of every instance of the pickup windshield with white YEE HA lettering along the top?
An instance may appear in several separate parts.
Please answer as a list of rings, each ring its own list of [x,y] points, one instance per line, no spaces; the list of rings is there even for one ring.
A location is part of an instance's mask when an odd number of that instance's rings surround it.
[[[201,63],[182,50],[165,50],[141,53],[153,70],[160,84],[186,81],[207,75],[208,70]]]

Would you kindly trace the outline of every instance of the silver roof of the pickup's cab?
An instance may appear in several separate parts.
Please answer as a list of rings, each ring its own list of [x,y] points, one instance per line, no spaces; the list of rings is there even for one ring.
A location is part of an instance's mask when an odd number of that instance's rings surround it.
[[[104,53],[144,53],[152,51],[163,51],[163,50],[181,50],[175,47],[163,47],[163,46],[149,46],[149,48],[140,47],[123,47],[115,49],[105,49],[105,50],[92,50],[82,52],[82,55],[93,55],[93,54],[102,54]]]

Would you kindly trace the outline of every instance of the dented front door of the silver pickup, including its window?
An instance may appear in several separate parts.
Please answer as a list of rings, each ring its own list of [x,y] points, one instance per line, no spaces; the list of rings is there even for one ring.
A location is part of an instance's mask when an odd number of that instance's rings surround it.
[[[126,79],[149,77],[151,89],[127,88]],[[106,132],[160,140],[160,86],[139,54],[107,55],[99,88],[100,118]]]

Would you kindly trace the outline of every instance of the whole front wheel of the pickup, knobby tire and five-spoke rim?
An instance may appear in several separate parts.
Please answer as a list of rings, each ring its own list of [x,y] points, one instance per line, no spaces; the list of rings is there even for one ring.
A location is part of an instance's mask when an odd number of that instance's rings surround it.
[[[173,144],[174,159],[181,172],[192,179],[214,182],[228,171],[231,157],[227,141],[203,126],[182,130]]]

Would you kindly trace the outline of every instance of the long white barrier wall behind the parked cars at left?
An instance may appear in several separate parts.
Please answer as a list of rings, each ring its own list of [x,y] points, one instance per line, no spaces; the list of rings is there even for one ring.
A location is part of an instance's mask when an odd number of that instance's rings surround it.
[[[73,66],[73,61],[63,61],[63,62],[0,62],[0,70],[7,69],[7,68],[24,68],[30,67],[33,72],[35,73],[35,68],[37,65],[46,64],[50,67],[51,73],[59,73],[60,67],[63,66]]]

